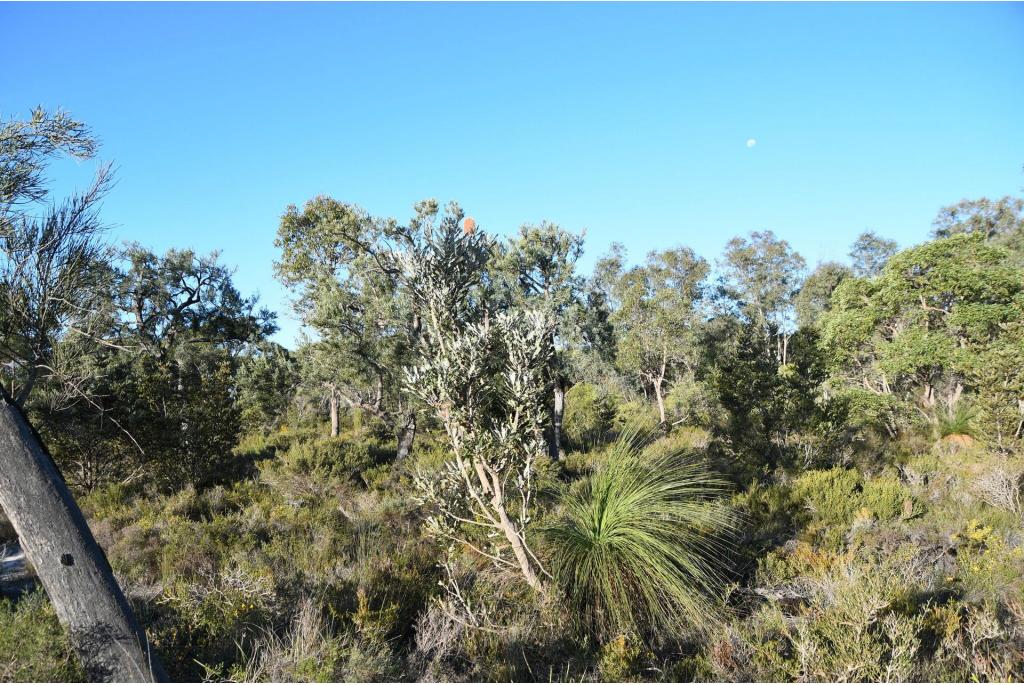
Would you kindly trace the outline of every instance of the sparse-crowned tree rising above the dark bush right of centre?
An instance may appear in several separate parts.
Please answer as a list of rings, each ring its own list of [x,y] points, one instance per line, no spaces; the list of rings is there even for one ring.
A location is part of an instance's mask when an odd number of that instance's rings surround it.
[[[804,258],[770,230],[732,239],[720,263],[723,294],[761,331],[766,351],[773,351],[780,366],[788,359],[794,297],[800,290],[804,266]]]

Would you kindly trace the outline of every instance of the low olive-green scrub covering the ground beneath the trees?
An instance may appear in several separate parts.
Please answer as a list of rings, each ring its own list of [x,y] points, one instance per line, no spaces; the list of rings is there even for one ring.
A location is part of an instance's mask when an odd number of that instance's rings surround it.
[[[656,444],[680,440],[691,443],[684,431]],[[700,595],[717,617],[643,638],[595,635],[577,604],[538,604],[471,553],[438,566],[412,498],[415,466],[389,464],[377,444],[286,430],[236,451],[255,463],[251,478],[171,495],[112,485],[83,500],[175,678],[1021,677],[1021,466],[996,454],[936,447],[866,473],[833,467],[734,488],[738,561],[719,569],[718,594]],[[546,468],[579,485],[574,474],[604,457]],[[429,466],[432,455],[416,459]],[[453,581],[462,607],[443,590]],[[8,679],[75,677],[42,596],[0,611]]]

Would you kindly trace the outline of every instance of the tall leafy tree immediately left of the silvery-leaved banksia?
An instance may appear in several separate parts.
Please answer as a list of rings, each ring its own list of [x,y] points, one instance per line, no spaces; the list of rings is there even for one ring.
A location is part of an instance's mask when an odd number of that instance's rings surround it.
[[[399,459],[412,448],[417,425],[399,374],[413,359],[422,323],[399,288],[394,251],[412,245],[437,212],[436,203],[420,203],[401,226],[316,197],[301,210],[288,208],[275,242],[278,277],[296,294],[303,323],[318,338],[312,376],[332,406],[332,432],[337,402],[344,402],[394,426]]]

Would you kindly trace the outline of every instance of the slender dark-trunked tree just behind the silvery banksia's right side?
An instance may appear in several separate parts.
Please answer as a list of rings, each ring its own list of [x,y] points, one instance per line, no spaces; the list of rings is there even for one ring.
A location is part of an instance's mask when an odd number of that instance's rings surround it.
[[[582,254],[583,236],[543,222],[521,226],[495,267],[512,282],[513,302],[545,311],[557,323],[551,333],[549,369],[553,394],[549,451],[553,459],[563,457],[567,347],[581,335],[578,314],[584,306],[584,280],[577,273],[575,264]]]

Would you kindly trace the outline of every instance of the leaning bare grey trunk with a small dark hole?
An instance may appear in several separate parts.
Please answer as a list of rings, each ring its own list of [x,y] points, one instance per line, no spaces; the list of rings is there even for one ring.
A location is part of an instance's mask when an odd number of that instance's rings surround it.
[[[28,420],[0,392],[0,507],[92,680],[166,680],[85,517]]]

